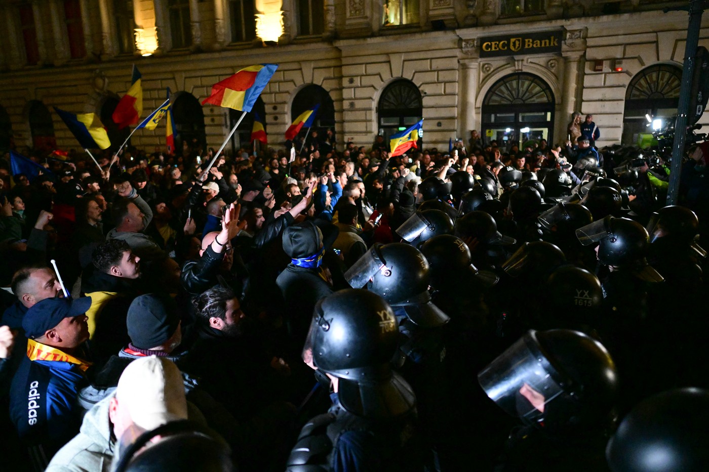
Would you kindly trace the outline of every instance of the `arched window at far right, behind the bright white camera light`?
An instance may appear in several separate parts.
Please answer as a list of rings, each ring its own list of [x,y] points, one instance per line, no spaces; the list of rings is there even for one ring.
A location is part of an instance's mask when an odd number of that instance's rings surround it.
[[[625,91],[623,144],[637,145],[642,135],[652,133],[653,125],[664,126],[676,116],[681,82],[682,69],[671,64],[655,64],[635,74]]]

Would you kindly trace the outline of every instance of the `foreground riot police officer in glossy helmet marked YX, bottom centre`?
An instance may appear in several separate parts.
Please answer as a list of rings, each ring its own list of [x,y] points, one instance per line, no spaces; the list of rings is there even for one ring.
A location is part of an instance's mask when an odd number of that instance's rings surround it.
[[[375,293],[347,289],[318,301],[303,360],[328,384],[333,405],[301,430],[289,472],[408,471],[416,398],[391,369],[396,317]]]

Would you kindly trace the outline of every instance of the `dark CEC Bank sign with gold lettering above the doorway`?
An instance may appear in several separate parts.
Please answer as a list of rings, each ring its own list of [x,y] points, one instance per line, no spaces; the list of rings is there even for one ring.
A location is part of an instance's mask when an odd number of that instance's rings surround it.
[[[480,57],[542,54],[562,51],[562,31],[544,31],[481,38]]]

